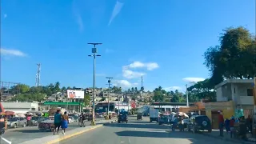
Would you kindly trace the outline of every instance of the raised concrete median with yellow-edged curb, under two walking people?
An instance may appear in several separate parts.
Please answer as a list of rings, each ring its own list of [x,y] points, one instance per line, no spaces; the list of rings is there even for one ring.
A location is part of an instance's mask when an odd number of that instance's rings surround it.
[[[82,134],[87,131],[94,130],[98,127],[103,126],[104,123],[110,123],[110,122],[114,122],[114,121],[115,121],[115,119],[101,120],[101,121],[97,122],[96,126],[79,127],[74,130],[66,131],[65,135],[62,134],[62,132],[60,131],[58,135],[49,135],[49,136],[42,137],[42,138],[35,138],[30,141],[22,142],[21,144],[35,144],[35,143],[54,144],[54,143],[57,143],[57,142],[60,142],[64,139],[66,139],[66,138],[71,138],[78,134]]]

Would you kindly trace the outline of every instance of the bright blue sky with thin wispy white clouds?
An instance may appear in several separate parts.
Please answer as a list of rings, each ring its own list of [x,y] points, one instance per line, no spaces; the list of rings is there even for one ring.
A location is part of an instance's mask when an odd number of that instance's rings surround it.
[[[1,81],[88,87],[98,46],[96,86],[184,90],[209,77],[202,54],[229,26],[255,32],[254,0],[2,0]]]

